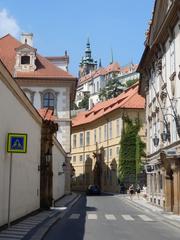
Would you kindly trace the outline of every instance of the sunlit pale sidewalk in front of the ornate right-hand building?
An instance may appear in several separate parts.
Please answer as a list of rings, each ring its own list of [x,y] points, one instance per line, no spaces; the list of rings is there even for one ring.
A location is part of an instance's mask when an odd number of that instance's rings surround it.
[[[118,195],[122,196],[123,195]],[[157,214],[161,219],[163,219],[164,222],[169,223],[175,227],[180,228],[180,216],[173,214],[171,212],[165,212],[161,207],[158,207],[151,202],[147,201],[144,199],[142,196],[138,199],[137,196],[133,197],[133,200],[130,199],[128,195],[124,195],[124,199],[128,201],[131,205],[134,205],[137,208],[142,209],[143,211],[146,212],[151,212]]]

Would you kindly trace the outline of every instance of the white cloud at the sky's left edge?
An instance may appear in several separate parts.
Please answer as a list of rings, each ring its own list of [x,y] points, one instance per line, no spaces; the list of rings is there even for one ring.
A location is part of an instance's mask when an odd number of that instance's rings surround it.
[[[13,16],[10,16],[6,9],[0,10],[0,37],[10,33],[14,37],[20,34],[20,27]]]

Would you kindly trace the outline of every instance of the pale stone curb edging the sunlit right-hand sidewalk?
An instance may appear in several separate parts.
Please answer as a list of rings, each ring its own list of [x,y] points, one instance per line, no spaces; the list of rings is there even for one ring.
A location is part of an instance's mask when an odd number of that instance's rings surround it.
[[[128,198],[126,198],[126,200],[127,200],[129,203],[131,203],[131,205],[134,205],[134,206],[136,206],[137,208],[139,208],[139,209],[141,209],[141,210],[146,209],[146,210],[151,211],[151,209],[149,209],[148,207],[142,206],[141,204],[138,204],[137,202],[133,202],[133,201],[129,200]],[[151,214],[152,214],[152,213],[154,213],[154,211],[152,211]],[[157,214],[158,216],[160,216],[160,217],[163,218],[163,220],[164,220],[163,223],[170,224],[171,226],[176,227],[176,228],[178,228],[178,229],[180,228],[180,222],[177,223],[177,222],[174,222],[173,220],[167,219],[167,217],[165,217],[165,216],[163,215],[163,213],[165,213],[165,212],[162,212],[162,213],[156,212],[156,214]]]

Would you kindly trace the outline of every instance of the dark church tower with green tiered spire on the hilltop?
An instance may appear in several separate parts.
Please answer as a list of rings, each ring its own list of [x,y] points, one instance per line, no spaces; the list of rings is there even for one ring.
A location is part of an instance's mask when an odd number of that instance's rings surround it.
[[[89,39],[87,40],[85,55],[79,64],[79,78],[87,75],[93,70],[97,69],[97,61],[94,61],[91,56],[91,48]]]

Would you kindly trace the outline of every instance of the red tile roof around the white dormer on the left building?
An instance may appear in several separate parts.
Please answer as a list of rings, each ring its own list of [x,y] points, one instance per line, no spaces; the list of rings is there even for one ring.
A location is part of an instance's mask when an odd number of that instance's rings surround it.
[[[6,66],[12,77],[16,78],[56,78],[56,79],[74,79],[68,72],[56,67],[53,63],[49,62],[45,57],[36,55],[37,69],[33,72],[16,72],[15,75],[15,61],[16,61],[16,48],[23,45],[17,41],[10,34],[0,38],[0,59]]]

